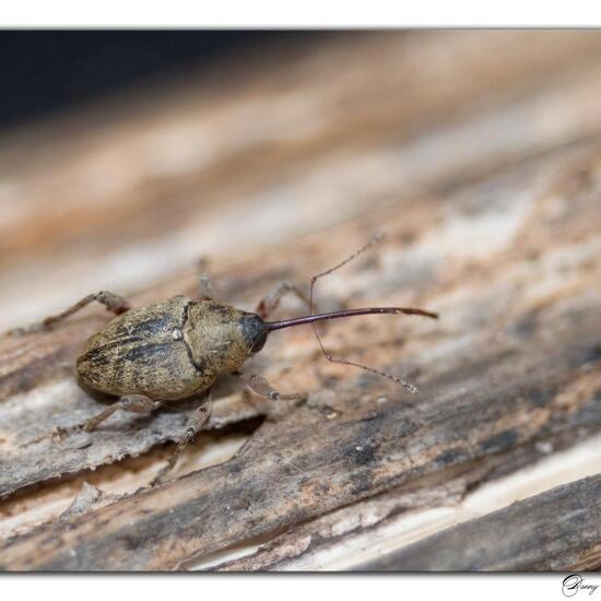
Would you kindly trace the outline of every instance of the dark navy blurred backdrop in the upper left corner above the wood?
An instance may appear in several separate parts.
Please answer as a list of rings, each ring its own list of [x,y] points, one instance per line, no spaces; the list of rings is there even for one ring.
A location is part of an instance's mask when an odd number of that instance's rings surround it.
[[[290,38],[302,36],[288,33]],[[286,38],[270,31],[4,31],[0,127]]]

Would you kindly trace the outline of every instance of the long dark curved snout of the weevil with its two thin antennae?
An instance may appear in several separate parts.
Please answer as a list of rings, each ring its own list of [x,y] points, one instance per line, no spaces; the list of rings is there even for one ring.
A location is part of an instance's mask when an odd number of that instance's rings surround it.
[[[404,315],[422,315],[424,317],[429,317],[432,319],[438,318],[438,315],[435,313],[431,313],[431,311],[426,311],[426,310],[417,309],[413,307],[365,307],[361,309],[349,309],[343,311],[333,311],[333,313],[318,314],[318,315],[315,315],[313,313],[313,293],[314,293],[314,287],[317,280],[319,280],[319,278],[323,278],[325,275],[329,275],[330,273],[345,266],[346,263],[349,263],[350,261],[358,257],[361,254],[365,252],[368,248],[376,245],[381,238],[382,238],[381,234],[376,234],[365,246],[363,246],[362,248],[353,252],[353,255],[344,259],[342,262],[311,278],[310,291],[309,291],[309,315],[308,316],[297,317],[293,319],[285,319],[282,321],[272,321],[272,322],[266,323],[266,326],[268,327],[268,330],[271,331],[271,330],[280,330],[282,328],[290,328],[293,326],[300,326],[303,323],[310,323],[313,326],[315,335],[317,338],[317,342],[319,343],[321,351],[326,355],[326,358],[331,363],[340,363],[342,365],[351,365],[353,367],[358,367],[360,369],[364,369],[365,372],[370,372],[372,374],[376,374],[378,376],[387,378],[402,386],[403,389],[406,390],[408,392],[417,392],[417,388],[415,386],[402,380],[401,378],[392,376],[391,374],[387,374],[386,372],[380,372],[379,369],[375,369],[373,367],[368,367],[367,365],[355,363],[353,361],[334,358],[331,355],[331,353],[323,346],[323,343],[321,342],[321,338],[319,337],[319,332],[317,331],[317,327],[316,327],[316,323],[318,321],[325,321],[328,319],[338,319],[340,317],[352,317],[355,315],[404,314]]]

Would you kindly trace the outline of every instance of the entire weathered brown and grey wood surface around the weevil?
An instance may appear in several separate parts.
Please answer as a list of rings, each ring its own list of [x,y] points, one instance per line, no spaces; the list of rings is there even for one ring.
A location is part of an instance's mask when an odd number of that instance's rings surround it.
[[[251,308],[374,232],[320,308],[441,318],[325,332],[415,396],[310,328],[272,335],[249,370],[314,408],[224,382],[153,490],[182,413],[47,436],[101,406],[72,366],[105,311],[0,340],[0,566],[599,568],[599,97],[598,32],[337,33],[5,133],[0,330],[98,290],[193,294],[201,257]]]

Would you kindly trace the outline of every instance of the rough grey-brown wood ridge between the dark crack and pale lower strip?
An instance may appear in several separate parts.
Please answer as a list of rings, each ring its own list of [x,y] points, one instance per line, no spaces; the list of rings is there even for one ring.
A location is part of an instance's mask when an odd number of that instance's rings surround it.
[[[598,308],[582,307],[577,316],[580,327],[555,338],[551,347],[541,340],[529,341],[522,345],[523,353],[495,355],[485,365],[472,365],[486,370],[482,379],[487,393],[479,389],[474,397],[469,386],[472,373],[446,374],[432,382],[438,392],[421,405],[420,420],[408,413],[403,402],[394,402],[352,420],[305,419],[291,421],[286,428],[273,425],[223,466],[7,545],[0,552],[0,565],[10,569],[175,568],[190,557],[275,532],[537,436],[598,428],[599,400],[566,393],[565,387],[570,372],[592,358],[597,332],[591,335],[590,331],[599,317]],[[561,349],[555,347],[557,341]],[[537,352],[544,355],[542,364],[538,358],[528,361]],[[364,393],[381,390],[379,381],[374,386],[370,379],[362,388]]]

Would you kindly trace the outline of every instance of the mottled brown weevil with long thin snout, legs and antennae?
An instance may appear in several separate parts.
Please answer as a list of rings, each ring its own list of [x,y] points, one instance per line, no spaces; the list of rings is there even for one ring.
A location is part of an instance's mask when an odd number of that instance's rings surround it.
[[[313,325],[319,345],[329,361],[367,369],[400,384],[408,391],[414,391],[412,385],[394,376],[357,363],[333,358],[325,349],[316,328],[319,321],[374,314],[420,315],[434,319],[438,317],[434,313],[412,307],[364,307],[314,314],[313,295],[317,280],[346,264],[375,241],[376,239],[372,239],[341,263],[311,278],[308,299],[297,287],[284,282],[258,304],[256,313],[248,313],[213,299],[210,282],[203,275],[200,299],[178,295],[160,303],[131,307],[121,296],[98,292],[39,323],[9,333],[15,335],[50,330],[94,300],[116,314],[113,320],[86,341],[76,361],[81,382],[118,398],[82,424],[81,427],[86,432],[94,431],[118,410],[150,414],[165,403],[210,391],[215,380],[226,374],[237,374],[250,390],[263,398],[303,400],[305,394],[281,393],[262,376],[238,372],[249,357],[263,347],[271,332],[303,325]],[[268,321],[267,318],[281,298],[291,292],[308,305],[309,314]],[[186,445],[207,424],[209,416],[210,403],[203,403],[190,413],[174,455],[153,484],[160,482],[175,466]]]

